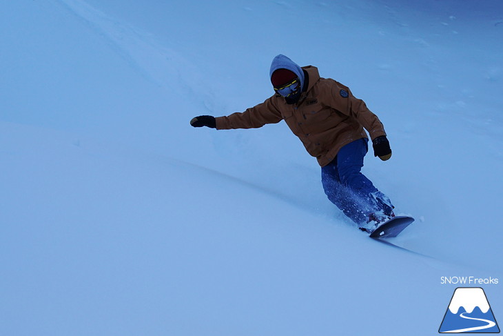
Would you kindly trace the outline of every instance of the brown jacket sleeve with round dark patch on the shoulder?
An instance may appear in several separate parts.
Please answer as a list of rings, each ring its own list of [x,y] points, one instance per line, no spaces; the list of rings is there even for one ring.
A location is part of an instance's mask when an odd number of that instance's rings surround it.
[[[347,86],[333,81],[330,92],[330,106],[349,117],[355,118],[369,132],[371,139],[386,135],[384,126],[379,118],[374,115],[365,101],[353,96]]]

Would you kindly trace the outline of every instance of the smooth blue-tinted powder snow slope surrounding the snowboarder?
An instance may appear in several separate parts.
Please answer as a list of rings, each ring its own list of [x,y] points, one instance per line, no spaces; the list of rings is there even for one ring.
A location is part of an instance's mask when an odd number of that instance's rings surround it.
[[[0,6],[1,335],[436,335],[441,277],[502,279],[501,1]],[[383,121],[364,172],[416,253],[356,230],[285,123],[189,126],[269,97],[279,53]]]

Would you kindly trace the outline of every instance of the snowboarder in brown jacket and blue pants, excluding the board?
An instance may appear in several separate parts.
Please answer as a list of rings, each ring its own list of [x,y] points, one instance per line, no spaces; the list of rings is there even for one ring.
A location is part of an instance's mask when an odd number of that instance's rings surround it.
[[[394,217],[389,198],[360,172],[368,150],[365,130],[374,156],[383,161],[391,157],[384,126],[365,102],[347,86],[320,77],[318,68],[301,68],[285,55],[274,57],[269,76],[275,94],[263,103],[227,117],[201,115],[190,124],[229,130],[285,120],[307,152],[318,159],[325,194],[347,217],[369,232]]]

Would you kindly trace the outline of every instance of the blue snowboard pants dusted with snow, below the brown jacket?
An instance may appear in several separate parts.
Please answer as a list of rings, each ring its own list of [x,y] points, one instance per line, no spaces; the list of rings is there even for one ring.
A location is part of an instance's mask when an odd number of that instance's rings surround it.
[[[325,194],[359,226],[367,222],[371,213],[392,211],[388,197],[360,172],[368,141],[362,138],[347,144],[330,164],[321,168]]]

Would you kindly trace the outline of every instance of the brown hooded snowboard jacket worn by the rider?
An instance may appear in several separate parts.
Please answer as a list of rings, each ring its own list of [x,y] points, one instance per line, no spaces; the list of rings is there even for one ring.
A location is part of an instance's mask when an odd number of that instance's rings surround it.
[[[296,104],[274,95],[263,103],[227,117],[216,118],[218,130],[259,128],[266,123],[285,120],[307,152],[326,166],[342,146],[361,138],[386,135],[381,121],[361,99],[351,94],[347,86],[333,79],[321,78],[318,68],[303,67],[309,75],[309,86]]]

